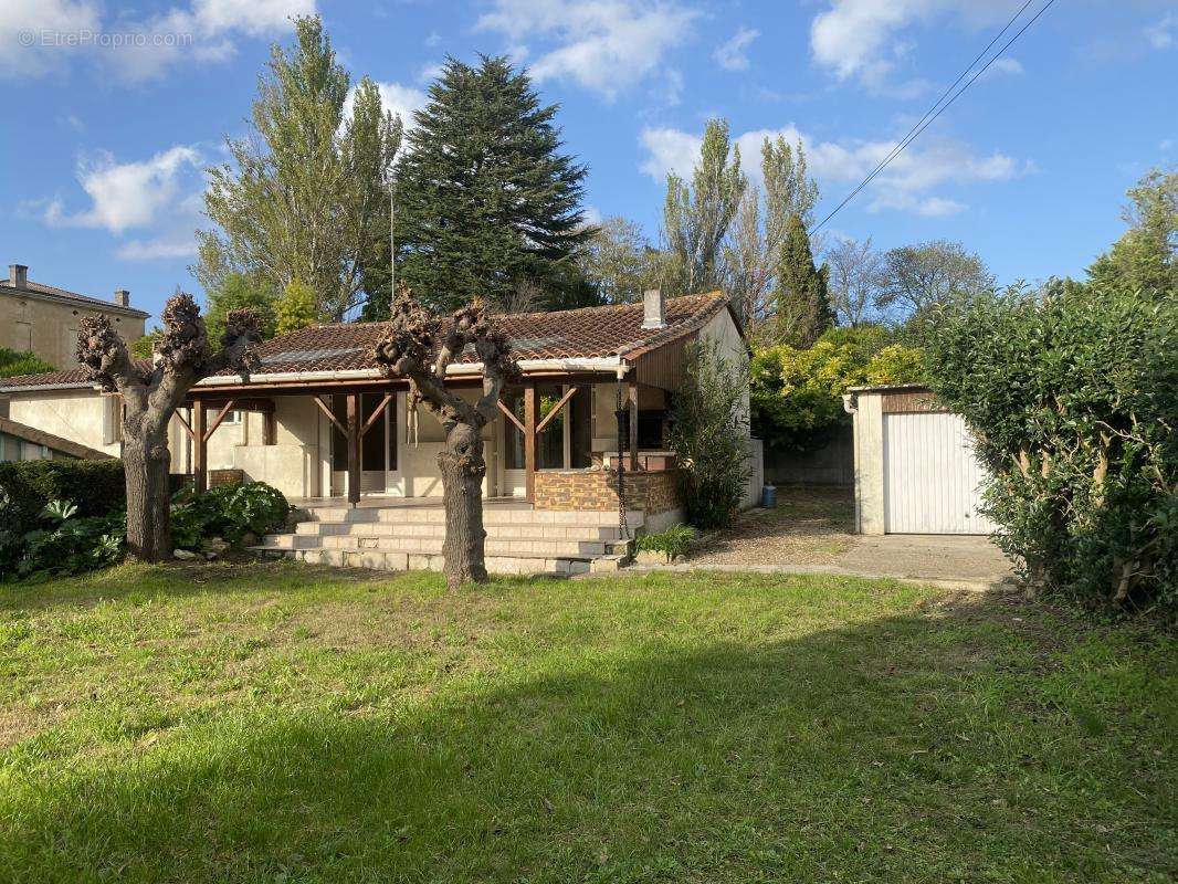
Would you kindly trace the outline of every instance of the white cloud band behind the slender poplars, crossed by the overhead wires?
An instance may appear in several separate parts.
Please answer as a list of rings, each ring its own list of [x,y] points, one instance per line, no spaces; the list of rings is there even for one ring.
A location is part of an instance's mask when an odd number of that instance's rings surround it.
[[[746,173],[760,182],[761,143],[766,138],[785,137],[789,144],[801,140],[810,173],[830,196],[858,185],[896,146],[896,141],[816,141],[795,126],[780,130],[744,132],[735,140],[740,147]],[[690,176],[700,153],[701,137],[676,128],[646,128],[640,143],[647,151],[641,169],[655,180],[669,171]],[[1004,182],[1030,169],[1004,153],[978,156],[955,141],[937,141],[924,147],[909,147],[900,153],[887,169],[867,185],[863,198],[868,211],[885,209],[915,212],[924,216],[945,216],[966,206],[933,193],[941,186]]]

